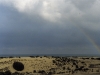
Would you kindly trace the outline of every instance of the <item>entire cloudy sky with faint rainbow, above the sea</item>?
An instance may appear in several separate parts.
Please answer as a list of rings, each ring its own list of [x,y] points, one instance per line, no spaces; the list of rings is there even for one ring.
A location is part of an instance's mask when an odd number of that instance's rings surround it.
[[[0,54],[100,54],[100,0],[0,0]]]

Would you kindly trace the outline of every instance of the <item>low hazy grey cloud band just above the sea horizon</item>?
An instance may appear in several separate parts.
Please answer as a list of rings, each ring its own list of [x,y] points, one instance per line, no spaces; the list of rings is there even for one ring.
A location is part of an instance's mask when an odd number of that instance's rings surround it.
[[[81,54],[99,54],[94,48],[93,46],[68,46],[68,47],[6,47],[6,48],[2,48],[2,53],[0,54],[30,54],[30,55],[34,55],[34,54],[67,54],[67,55],[81,55]],[[92,52],[91,52],[92,51]]]

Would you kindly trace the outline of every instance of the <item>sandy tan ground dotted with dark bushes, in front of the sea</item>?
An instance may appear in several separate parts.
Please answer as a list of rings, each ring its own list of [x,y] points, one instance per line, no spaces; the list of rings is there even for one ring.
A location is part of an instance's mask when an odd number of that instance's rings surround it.
[[[98,57],[1,57],[0,75],[100,75]]]

